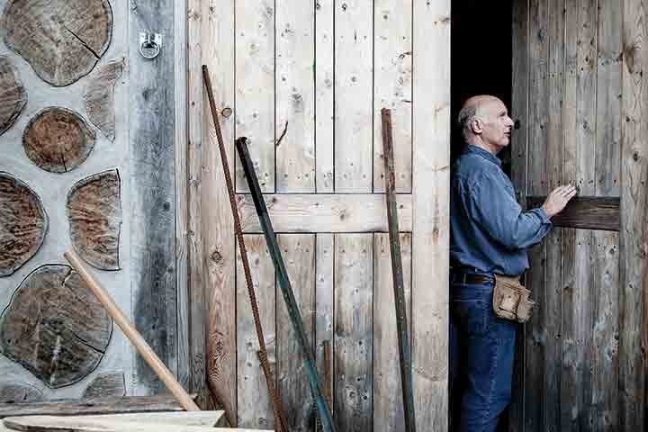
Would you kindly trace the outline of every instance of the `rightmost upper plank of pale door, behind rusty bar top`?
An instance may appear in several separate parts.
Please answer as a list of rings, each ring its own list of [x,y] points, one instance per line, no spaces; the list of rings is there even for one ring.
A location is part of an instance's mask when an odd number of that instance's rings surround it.
[[[396,192],[411,192],[412,2],[374,3],[374,192],[384,192],[380,111],[392,110]]]

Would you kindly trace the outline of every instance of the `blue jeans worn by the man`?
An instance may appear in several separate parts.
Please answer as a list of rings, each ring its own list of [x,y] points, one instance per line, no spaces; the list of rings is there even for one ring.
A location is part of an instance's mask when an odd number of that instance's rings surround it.
[[[461,432],[493,432],[511,399],[518,324],[492,310],[493,284],[450,288],[450,381]]]

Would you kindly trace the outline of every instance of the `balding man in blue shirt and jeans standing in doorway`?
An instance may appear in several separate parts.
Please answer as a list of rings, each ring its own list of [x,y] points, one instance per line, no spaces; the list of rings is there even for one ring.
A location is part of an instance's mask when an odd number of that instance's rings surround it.
[[[461,431],[491,432],[509,405],[518,324],[493,311],[494,275],[518,276],[528,268],[527,247],[552,228],[553,217],[576,194],[568,184],[542,207],[522,211],[496,156],[509,145],[513,121],[500,99],[474,96],[459,113],[467,144],[453,167],[450,198],[451,346]],[[454,381],[454,380],[453,380]],[[455,399],[455,398],[453,398]]]

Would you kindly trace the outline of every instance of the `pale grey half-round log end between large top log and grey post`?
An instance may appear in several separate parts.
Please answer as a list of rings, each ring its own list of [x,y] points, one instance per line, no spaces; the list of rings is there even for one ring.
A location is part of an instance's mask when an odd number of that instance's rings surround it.
[[[115,139],[114,87],[121,78],[125,60],[116,60],[100,67],[85,86],[84,101],[88,119],[107,139]]]

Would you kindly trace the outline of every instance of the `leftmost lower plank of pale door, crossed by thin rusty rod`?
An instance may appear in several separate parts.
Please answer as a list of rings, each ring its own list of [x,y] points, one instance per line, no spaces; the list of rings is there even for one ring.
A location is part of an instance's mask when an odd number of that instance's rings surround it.
[[[262,235],[245,236],[247,257],[264,329],[268,363],[273,376],[276,365],[275,267]],[[275,428],[273,407],[267,391],[266,377],[257,356],[259,343],[247,284],[237,247],[237,406],[241,428]]]

